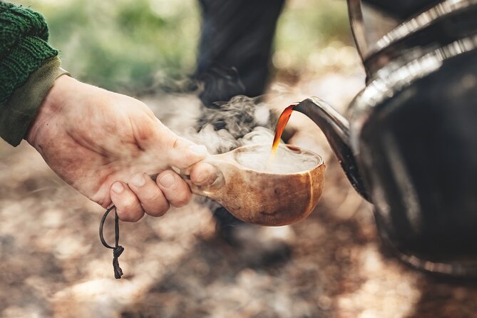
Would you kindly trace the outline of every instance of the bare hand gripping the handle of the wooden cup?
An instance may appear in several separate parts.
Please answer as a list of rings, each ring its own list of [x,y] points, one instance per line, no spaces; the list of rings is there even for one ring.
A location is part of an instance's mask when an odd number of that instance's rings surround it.
[[[170,167],[187,168],[207,156],[204,146],[175,135],[140,101],[59,77],[27,135],[51,169],[103,207],[116,205],[120,220],[163,215],[190,201],[187,183]],[[156,181],[149,175],[157,175]],[[214,180],[199,163],[191,180]]]

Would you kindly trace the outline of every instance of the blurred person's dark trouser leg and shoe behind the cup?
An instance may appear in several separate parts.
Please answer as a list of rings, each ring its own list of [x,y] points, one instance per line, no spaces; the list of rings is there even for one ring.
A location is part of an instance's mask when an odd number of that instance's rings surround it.
[[[199,2],[202,35],[195,78],[202,86],[202,104],[205,108],[218,108],[216,102],[229,101],[237,95],[262,95],[270,75],[272,42],[284,0]],[[208,123],[205,118],[199,119],[199,129],[206,124],[223,128],[220,121]],[[247,247],[247,255],[260,255],[260,260],[253,262],[274,262],[288,257],[286,242],[292,236],[289,228],[263,230],[245,226],[224,207],[217,207],[214,217],[218,234],[230,245]],[[250,240],[255,240],[255,244],[250,244]]]

